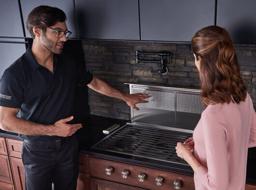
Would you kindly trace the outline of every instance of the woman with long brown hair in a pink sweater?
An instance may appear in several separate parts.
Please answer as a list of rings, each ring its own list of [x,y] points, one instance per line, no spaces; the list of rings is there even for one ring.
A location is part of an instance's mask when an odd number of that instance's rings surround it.
[[[224,28],[212,25],[196,33],[192,49],[206,109],[193,138],[177,143],[177,155],[193,168],[196,190],[244,190],[256,114],[233,44]]]

